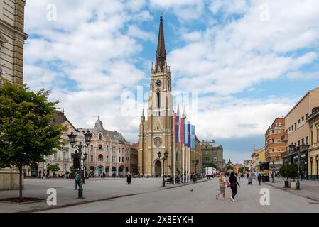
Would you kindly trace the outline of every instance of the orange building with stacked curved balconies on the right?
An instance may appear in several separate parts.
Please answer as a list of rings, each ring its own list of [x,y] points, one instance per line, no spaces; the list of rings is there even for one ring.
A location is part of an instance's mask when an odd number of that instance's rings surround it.
[[[285,135],[285,118],[276,118],[265,133],[265,160],[269,162],[270,171],[279,171],[282,165],[281,156],[286,146],[281,137]]]

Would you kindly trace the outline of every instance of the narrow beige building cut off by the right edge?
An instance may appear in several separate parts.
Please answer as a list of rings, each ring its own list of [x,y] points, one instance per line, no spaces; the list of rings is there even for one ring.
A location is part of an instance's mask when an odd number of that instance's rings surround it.
[[[319,179],[319,109],[313,109],[306,119],[309,123],[308,179]]]

